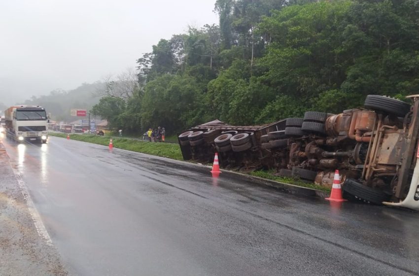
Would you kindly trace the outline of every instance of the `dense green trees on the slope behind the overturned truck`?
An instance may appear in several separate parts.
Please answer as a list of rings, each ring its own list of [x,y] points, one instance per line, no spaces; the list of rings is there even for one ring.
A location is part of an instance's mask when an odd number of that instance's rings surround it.
[[[161,39],[137,61],[133,96],[104,98],[95,113],[129,131],[173,133],[419,91],[418,0],[217,0],[215,11],[219,26]]]

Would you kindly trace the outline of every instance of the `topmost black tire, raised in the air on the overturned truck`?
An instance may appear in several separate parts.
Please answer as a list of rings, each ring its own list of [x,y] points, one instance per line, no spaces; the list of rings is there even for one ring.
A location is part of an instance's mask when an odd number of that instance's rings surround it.
[[[364,107],[404,117],[410,111],[410,104],[379,95],[368,95]]]

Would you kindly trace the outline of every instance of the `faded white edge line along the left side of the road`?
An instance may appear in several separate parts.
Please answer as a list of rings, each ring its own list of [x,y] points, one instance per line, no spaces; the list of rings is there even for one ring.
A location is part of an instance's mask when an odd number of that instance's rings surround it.
[[[49,236],[48,231],[46,230],[45,225],[42,222],[38,210],[36,210],[35,204],[32,201],[31,195],[29,194],[29,190],[25,184],[25,181],[23,181],[22,179],[21,173],[19,173],[15,168],[13,168],[13,166],[10,167],[12,168],[13,173],[16,176],[17,183],[22,192],[23,198],[26,201],[26,205],[28,206],[29,213],[31,214],[32,220],[34,221],[34,225],[39,237],[41,237],[47,245],[52,246],[51,237]]]

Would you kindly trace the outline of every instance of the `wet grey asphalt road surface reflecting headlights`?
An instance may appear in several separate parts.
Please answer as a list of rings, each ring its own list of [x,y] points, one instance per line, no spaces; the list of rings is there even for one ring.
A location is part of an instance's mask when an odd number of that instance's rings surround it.
[[[51,137],[3,140],[71,275],[419,275],[419,214]]]

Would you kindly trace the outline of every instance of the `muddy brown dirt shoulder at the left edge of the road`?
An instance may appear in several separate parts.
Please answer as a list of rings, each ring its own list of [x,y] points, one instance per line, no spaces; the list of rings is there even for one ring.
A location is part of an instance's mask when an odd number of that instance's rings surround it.
[[[39,235],[37,226],[0,141],[0,275],[68,275],[56,248]]]

